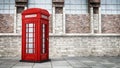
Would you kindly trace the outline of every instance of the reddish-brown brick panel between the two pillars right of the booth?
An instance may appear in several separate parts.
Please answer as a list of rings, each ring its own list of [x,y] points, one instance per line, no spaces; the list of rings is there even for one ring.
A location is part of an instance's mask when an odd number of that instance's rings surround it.
[[[88,14],[66,14],[66,33],[90,33]]]

